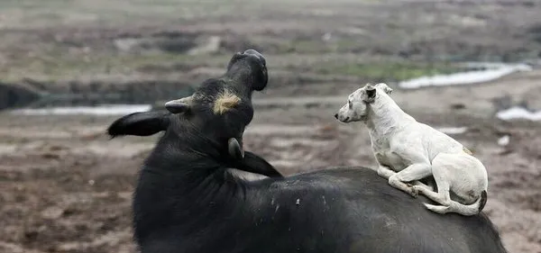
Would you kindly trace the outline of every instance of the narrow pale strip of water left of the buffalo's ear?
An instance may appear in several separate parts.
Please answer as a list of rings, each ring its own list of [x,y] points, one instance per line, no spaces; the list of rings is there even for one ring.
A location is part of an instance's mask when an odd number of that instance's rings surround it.
[[[18,115],[124,115],[151,110],[151,104],[100,104],[96,106],[62,106],[38,109],[16,109]]]

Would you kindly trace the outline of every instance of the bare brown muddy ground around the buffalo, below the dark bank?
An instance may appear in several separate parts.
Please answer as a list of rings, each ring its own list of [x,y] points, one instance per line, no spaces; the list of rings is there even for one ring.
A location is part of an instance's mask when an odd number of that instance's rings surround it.
[[[475,102],[478,95],[488,96],[481,91],[505,82],[445,87],[429,95],[426,90],[397,90],[394,97],[408,101],[405,108],[419,121],[438,128],[468,128],[453,136],[489,169],[491,198],[486,212],[509,252],[538,253],[541,128],[538,123],[500,122],[490,115],[468,113],[481,111],[486,103]],[[521,81],[515,86],[540,82]],[[461,97],[470,101],[466,109],[445,109],[454,102],[445,100],[447,94],[464,93],[464,89],[471,91]],[[434,106],[423,102],[426,96],[440,101],[439,110],[432,111]],[[342,102],[286,109],[280,101],[258,109],[245,133],[246,149],[261,154],[285,174],[334,165],[374,165],[362,124],[346,125],[332,117]],[[0,252],[132,252],[131,193],[155,137],[108,140],[104,131],[112,117],[5,114],[2,119]],[[497,140],[504,135],[510,136],[509,145],[500,147]]]

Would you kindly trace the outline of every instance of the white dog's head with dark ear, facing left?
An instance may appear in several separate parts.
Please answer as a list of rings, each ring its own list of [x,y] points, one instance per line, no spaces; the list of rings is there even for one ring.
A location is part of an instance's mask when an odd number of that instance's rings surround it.
[[[340,122],[365,122],[367,108],[376,101],[379,92],[390,95],[392,89],[384,83],[367,84],[357,89],[347,97],[347,103],[335,113],[335,118]]]

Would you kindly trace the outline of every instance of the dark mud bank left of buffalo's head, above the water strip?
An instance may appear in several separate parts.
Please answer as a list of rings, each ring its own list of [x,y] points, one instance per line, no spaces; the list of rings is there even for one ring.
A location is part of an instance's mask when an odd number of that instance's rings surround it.
[[[188,81],[128,80],[69,81],[48,83],[33,81],[28,84],[0,84],[0,110],[28,106],[77,106],[93,104],[151,104],[157,99],[190,95],[193,86]]]

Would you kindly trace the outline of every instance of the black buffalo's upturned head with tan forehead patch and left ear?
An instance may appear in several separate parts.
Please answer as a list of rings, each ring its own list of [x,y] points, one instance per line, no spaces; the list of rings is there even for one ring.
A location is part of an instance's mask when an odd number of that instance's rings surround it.
[[[261,91],[267,82],[261,53],[235,53],[224,75],[206,79],[193,95],[166,103],[167,112],[125,115],[110,125],[108,133],[113,137],[149,136],[167,131],[194,143],[197,138],[224,147],[231,144],[231,138],[242,143],[244,128],[253,117],[252,92]]]

